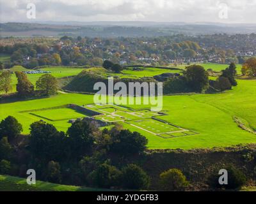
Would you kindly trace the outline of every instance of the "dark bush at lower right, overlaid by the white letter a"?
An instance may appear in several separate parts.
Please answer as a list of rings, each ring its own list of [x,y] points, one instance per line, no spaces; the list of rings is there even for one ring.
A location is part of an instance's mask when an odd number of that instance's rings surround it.
[[[228,184],[219,184],[219,178],[221,175],[218,175],[218,171],[216,170],[214,175],[211,175],[208,179],[209,186],[213,188],[239,189],[246,183],[246,176],[244,173],[234,166],[228,166],[223,169],[228,172]]]

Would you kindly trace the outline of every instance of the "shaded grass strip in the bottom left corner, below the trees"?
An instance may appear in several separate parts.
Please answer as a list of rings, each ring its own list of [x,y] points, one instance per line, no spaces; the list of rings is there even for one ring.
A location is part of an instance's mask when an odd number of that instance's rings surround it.
[[[0,175],[0,191],[106,191],[106,189],[52,184],[40,180],[36,180],[36,184],[30,186],[26,179]]]

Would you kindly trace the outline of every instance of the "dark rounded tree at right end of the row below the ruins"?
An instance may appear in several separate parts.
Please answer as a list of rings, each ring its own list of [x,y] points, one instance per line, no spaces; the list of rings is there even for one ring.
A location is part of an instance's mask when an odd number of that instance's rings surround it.
[[[132,154],[141,154],[148,143],[147,138],[138,132],[131,132],[128,129],[122,129],[119,133],[111,135],[112,144],[110,151],[116,154],[129,156]]]

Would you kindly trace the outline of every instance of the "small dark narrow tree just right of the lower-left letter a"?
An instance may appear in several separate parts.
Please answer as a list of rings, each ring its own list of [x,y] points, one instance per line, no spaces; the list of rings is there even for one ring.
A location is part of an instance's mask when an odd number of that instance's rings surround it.
[[[49,161],[47,165],[47,176],[46,179],[49,182],[61,183],[61,170],[60,164],[56,161]]]

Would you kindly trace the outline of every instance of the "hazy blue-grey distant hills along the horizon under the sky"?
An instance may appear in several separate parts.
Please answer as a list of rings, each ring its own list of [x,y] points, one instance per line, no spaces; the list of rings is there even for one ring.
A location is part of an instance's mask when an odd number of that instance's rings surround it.
[[[172,34],[256,33],[256,24],[184,22],[8,22],[0,24],[1,36],[152,37]]]

